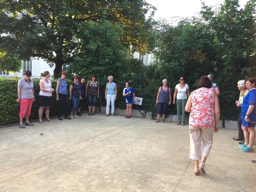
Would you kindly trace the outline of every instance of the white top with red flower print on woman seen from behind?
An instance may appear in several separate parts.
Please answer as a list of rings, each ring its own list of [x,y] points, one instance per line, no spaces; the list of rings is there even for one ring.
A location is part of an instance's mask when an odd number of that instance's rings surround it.
[[[199,88],[191,93],[191,112],[189,125],[214,128],[214,97],[211,89]]]

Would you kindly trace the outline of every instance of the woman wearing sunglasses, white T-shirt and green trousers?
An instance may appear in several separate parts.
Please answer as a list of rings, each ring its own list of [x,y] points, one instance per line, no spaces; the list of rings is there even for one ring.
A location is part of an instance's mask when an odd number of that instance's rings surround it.
[[[175,92],[173,94],[173,104],[177,104],[178,122],[176,125],[185,125],[185,106],[187,103],[187,97],[190,96],[189,87],[185,83],[184,76],[180,76],[180,83],[176,85]],[[175,102],[176,98],[176,102]]]

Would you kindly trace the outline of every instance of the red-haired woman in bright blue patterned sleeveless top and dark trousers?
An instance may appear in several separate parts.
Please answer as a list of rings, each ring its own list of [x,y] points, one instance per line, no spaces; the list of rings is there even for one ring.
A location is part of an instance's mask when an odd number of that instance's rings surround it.
[[[61,74],[61,78],[57,80],[57,87],[56,87],[56,100],[58,101],[58,119],[63,120],[61,117],[61,108],[62,108],[62,101],[65,102],[65,119],[71,119],[69,117],[69,97],[67,93],[67,77],[68,73],[63,71]]]

